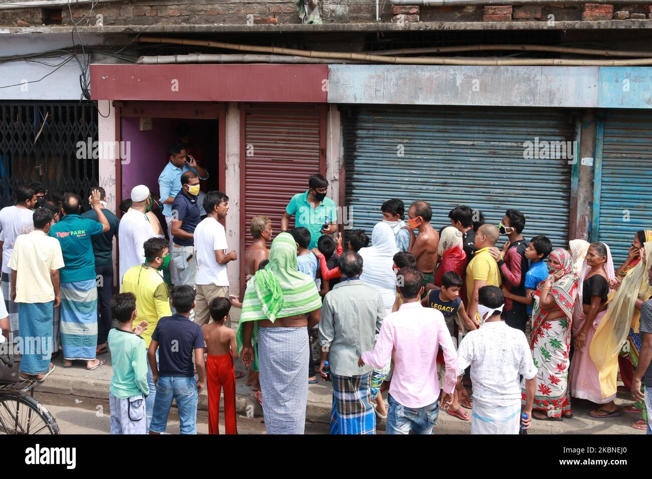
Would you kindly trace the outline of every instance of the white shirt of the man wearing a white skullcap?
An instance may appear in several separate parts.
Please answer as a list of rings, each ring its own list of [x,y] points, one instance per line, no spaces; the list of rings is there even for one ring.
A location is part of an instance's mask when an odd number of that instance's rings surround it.
[[[128,269],[145,263],[143,244],[152,237],[154,237],[154,230],[145,214],[134,209],[129,209],[123,214],[118,230],[120,283]]]

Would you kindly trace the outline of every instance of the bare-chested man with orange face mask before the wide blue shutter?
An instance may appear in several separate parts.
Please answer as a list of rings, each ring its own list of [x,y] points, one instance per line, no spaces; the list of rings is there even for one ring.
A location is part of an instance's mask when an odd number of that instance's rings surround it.
[[[408,252],[417,259],[417,269],[423,273],[424,286],[435,280],[437,267],[437,246],[439,233],[430,225],[432,208],[426,201],[415,201],[408,209],[408,225],[404,226],[410,233]],[[414,229],[419,229],[416,239]]]

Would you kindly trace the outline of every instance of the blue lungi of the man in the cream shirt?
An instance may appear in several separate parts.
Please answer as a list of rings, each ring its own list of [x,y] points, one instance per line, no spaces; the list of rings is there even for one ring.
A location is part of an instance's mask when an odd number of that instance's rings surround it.
[[[18,303],[22,355],[20,372],[31,375],[50,371],[52,358],[52,306],[53,301]]]

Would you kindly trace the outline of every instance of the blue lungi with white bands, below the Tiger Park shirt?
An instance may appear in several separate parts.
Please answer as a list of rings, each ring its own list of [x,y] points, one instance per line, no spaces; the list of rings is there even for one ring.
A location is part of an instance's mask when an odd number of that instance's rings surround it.
[[[94,279],[61,283],[61,342],[65,359],[95,359],[97,284]]]

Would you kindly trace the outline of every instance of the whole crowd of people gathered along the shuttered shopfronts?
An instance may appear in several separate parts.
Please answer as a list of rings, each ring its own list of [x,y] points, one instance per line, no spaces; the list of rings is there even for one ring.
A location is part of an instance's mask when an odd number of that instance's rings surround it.
[[[235,434],[245,375],[268,433],[304,433],[319,381],[333,385],[333,434],[373,434],[380,420],[387,433],[431,434],[440,411],[470,420],[471,433],[516,434],[532,419],[571,418],[571,398],[595,403],[594,418],[638,414],[632,427],[652,433],[652,231],[636,233],[614,269],[604,242],[526,239],[516,209],[494,225],[460,205],[437,228],[426,201],[406,212],[389,199],[370,236],[346,231],[345,249],[316,174],[273,240],[271,218],[251,220],[240,301],[229,292],[229,198],[200,192],[208,172],[186,148],[170,147],[160,199],[135,186],[120,219],[100,187],[86,212],[78,195],[46,198],[38,183],[0,210],[2,339],[39,382],[55,355],[92,371],[110,351],[111,433],[164,433],[173,400],[181,433],[196,433],[206,386],[209,432],[223,394]],[[635,401],[624,407],[618,377]]]

